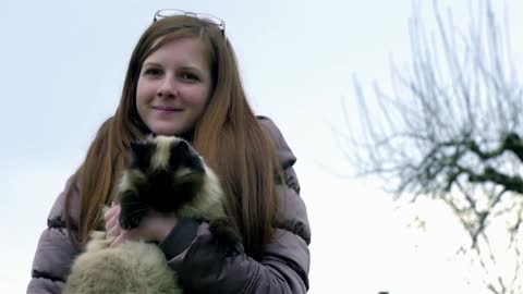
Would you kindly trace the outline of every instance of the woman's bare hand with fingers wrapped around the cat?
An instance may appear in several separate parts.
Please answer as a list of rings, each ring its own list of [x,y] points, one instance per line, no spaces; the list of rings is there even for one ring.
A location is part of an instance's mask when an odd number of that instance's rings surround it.
[[[112,204],[104,215],[107,238],[112,238],[111,247],[118,246],[127,240],[155,241],[161,243],[177,224],[174,213],[148,211],[139,225],[133,230],[123,230],[120,226],[120,205]]]

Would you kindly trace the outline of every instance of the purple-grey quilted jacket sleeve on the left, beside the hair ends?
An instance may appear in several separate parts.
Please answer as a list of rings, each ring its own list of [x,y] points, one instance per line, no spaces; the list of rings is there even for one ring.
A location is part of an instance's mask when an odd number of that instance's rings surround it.
[[[70,180],[71,181],[71,180]],[[66,191],[70,181],[65,186]],[[72,207],[77,207],[78,191],[72,191]],[[47,220],[47,229],[40,235],[33,260],[32,279],[27,286],[29,294],[59,294],[70,267],[78,250],[71,244],[69,232],[65,229],[64,218],[65,193],[62,192],[54,201]],[[73,210],[73,224],[77,223]]]

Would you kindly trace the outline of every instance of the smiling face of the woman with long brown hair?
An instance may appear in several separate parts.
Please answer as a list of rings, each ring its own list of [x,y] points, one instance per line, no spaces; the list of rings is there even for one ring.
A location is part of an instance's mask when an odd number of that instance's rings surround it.
[[[212,76],[197,38],[167,42],[142,66],[136,108],[157,135],[182,135],[194,128],[211,95]]]

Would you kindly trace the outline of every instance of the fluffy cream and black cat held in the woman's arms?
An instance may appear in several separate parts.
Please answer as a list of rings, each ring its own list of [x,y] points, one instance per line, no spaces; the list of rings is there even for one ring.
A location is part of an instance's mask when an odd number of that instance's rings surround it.
[[[117,197],[120,225],[139,225],[150,209],[175,212],[179,218],[208,220],[227,254],[239,253],[238,233],[226,218],[219,180],[191,145],[178,137],[156,136],[133,143]],[[177,274],[157,245],[127,241],[108,247],[105,232],[95,231],[85,253],[74,261],[65,294],[182,293]]]

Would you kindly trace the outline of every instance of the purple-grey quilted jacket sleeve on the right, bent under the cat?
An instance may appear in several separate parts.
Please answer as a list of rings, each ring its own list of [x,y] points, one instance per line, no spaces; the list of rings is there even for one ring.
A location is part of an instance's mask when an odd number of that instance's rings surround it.
[[[187,243],[188,247],[165,246],[169,242],[160,247],[168,256],[174,256],[169,265],[179,272],[191,293],[277,294],[306,293],[308,290],[311,229],[292,168],[295,157],[272,122],[259,119],[276,138],[278,156],[287,175],[287,184],[278,186],[279,220],[284,220],[285,224],[276,230],[260,260],[246,255],[220,256],[205,223],[199,226],[187,222],[177,225],[168,240]],[[193,238],[188,233],[191,230],[196,231]]]

